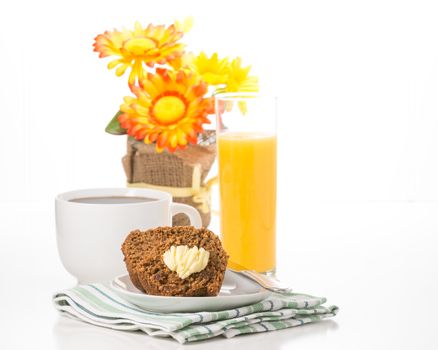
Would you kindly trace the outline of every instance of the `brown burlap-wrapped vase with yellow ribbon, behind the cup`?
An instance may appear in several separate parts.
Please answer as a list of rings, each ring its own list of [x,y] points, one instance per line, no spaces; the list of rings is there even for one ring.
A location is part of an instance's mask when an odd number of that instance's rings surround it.
[[[211,219],[211,185],[206,181],[216,158],[216,143],[211,142],[213,132],[204,135],[197,145],[190,145],[174,153],[158,153],[155,145],[147,145],[128,137],[128,149],[122,159],[129,187],[158,189],[172,194],[173,200],[195,207],[207,227]],[[214,135],[213,135],[214,138]],[[189,225],[184,214],[173,217],[173,225]]]

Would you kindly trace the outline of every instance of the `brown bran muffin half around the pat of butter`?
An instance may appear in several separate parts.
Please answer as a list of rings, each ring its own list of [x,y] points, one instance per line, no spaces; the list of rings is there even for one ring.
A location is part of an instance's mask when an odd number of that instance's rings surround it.
[[[203,248],[209,253],[207,265],[180,278],[163,260],[163,254],[172,246]],[[215,296],[220,291],[228,261],[221,241],[213,232],[192,226],[133,231],[123,243],[122,251],[132,283],[152,295]]]

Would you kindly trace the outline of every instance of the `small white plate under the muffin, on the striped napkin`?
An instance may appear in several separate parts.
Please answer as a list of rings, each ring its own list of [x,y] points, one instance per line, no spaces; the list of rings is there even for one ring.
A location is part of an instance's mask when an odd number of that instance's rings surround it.
[[[129,275],[116,277],[111,288],[121,298],[148,311],[155,312],[200,312],[233,309],[262,301],[270,292],[257,283],[226,271],[221,291],[215,297],[166,297],[149,295],[138,290]]]

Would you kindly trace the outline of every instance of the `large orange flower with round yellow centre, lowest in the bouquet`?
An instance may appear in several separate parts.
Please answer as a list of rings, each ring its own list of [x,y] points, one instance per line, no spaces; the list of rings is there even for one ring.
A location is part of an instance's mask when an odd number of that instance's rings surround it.
[[[130,136],[145,143],[156,143],[157,151],[174,152],[197,142],[203,124],[212,113],[210,99],[204,98],[207,85],[199,75],[186,71],[157,68],[148,73],[125,97],[119,122]]]

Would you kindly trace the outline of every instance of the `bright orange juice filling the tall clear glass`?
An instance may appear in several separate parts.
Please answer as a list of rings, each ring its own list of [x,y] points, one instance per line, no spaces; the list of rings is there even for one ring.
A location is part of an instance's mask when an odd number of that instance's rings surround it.
[[[219,134],[221,238],[229,267],[275,269],[277,138]]]

